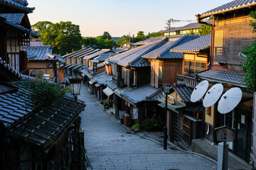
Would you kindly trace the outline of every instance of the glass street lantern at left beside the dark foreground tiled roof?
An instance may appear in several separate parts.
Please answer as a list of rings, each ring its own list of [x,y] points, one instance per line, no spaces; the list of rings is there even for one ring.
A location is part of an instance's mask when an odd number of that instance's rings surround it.
[[[82,77],[78,74],[78,69],[74,69],[74,74],[69,78],[70,89],[74,95],[75,101],[78,100],[78,95],[80,95],[80,89],[82,84]]]

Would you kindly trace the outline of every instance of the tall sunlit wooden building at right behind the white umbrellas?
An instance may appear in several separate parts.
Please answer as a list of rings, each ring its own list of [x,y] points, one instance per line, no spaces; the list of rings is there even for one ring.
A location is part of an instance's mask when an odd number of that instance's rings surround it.
[[[215,128],[228,125],[235,129],[234,140],[228,142],[228,147],[230,152],[247,162],[250,157],[255,162],[256,137],[255,132],[252,132],[255,120],[252,115],[252,94],[248,93],[242,82],[241,66],[245,60],[239,53],[245,45],[256,40],[256,34],[252,33],[250,26],[252,18],[249,16],[250,11],[255,11],[255,7],[255,1],[236,0],[196,15],[198,23],[203,23],[202,19],[213,16],[210,65],[206,71],[197,74],[198,79],[208,80],[210,86],[223,84],[224,92],[232,87],[242,90],[240,103],[230,113],[220,114],[216,109],[218,103],[204,108],[204,137],[210,142],[218,143]]]

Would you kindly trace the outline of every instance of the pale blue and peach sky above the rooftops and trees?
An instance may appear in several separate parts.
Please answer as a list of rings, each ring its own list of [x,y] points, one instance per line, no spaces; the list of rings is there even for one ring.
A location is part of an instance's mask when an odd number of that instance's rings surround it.
[[[80,26],[83,37],[96,37],[108,31],[112,37],[165,30],[169,18],[182,20],[171,27],[196,22],[204,13],[231,0],[27,0],[36,7],[28,14],[31,25],[38,21],[71,21]]]

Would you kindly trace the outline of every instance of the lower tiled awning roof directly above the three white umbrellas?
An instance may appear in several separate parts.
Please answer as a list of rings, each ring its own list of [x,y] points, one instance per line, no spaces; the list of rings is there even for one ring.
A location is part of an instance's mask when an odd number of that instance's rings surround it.
[[[215,81],[225,82],[227,84],[235,84],[238,86],[245,86],[242,82],[242,73],[227,72],[217,69],[209,69],[197,74],[201,79],[209,79]]]

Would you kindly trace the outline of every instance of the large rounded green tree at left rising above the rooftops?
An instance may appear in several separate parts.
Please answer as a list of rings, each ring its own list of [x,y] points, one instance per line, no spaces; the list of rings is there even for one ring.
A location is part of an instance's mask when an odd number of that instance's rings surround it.
[[[60,23],[39,21],[32,28],[41,34],[39,39],[43,41],[43,44],[51,45],[53,52],[58,55],[65,55],[81,47],[80,28],[70,21],[60,21]]]

